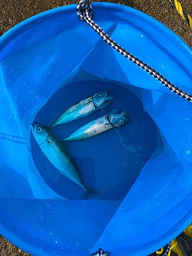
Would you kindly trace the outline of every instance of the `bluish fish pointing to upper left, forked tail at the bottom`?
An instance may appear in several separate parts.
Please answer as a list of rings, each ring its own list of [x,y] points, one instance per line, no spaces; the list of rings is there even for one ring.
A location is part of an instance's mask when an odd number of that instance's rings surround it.
[[[89,194],[100,194],[84,185],[76,163],[62,143],[46,127],[35,122],[34,124],[31,123],[31,129],[36,142],[49,161],[62,175],[84,189],[84,199],[87,199]]]

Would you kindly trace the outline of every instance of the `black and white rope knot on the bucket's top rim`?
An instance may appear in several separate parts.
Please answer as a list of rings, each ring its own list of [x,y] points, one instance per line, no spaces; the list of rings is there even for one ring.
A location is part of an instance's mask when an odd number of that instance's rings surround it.
[[[77,5],[77,15],[81,20],[89,18],[92,12],[92,0],[80,0]]]

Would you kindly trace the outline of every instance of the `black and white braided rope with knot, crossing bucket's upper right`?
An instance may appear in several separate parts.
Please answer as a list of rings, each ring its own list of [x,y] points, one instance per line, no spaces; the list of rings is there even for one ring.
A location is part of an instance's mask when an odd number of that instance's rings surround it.
[[[102,38],[105,42],[107,42],[111,47],[113,47],[116,51],[121,53],[127,59],[130,59],[140,68],[144,69],[147,73],[154,76],[157,80],[159,80],[164,86],[166,86],[169,90],[176,93],[180,97],[187,99],[192,102],[192,95],[183,92],[178,87],[174,86],[174,84],[170,83],[167,79],[165,79],[162,75],[160,75],[157,71],[152,69],[150,66],[146,65],[143,61],[136,58],[131,53],[127,52],[124,48],[119,46],[111,37],[106,34],[90,17],[92,7],[91,0],[80,0],[77,5],[77,14],[81,20],[85,20],[89,26],[91,26]]]

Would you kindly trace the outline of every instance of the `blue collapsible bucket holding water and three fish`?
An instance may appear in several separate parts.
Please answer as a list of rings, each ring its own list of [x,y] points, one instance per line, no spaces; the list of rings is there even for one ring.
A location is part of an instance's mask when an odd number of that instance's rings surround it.
[[[94,21],[183,91],[191,49],[154,18],[94,3]],[[114,51],[76,14],[76,5],[25,20],[0,38],[0,232],[32,255],[148,255],[192,221],[192,108]],[[68,143],[83,189],[50,163],[30,123],[51,125],[76,102],[109,89],[110,105],[55,127],[77,127],[127,109],[130,122]]]

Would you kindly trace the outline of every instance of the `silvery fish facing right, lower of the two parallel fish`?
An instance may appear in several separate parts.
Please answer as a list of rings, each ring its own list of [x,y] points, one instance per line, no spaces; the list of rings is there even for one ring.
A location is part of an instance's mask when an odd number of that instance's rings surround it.
[[[119,127],[129,121],[130,119],[126,109],[114,109],[108,115],[100,117],[80,127],[77,131],[62,141],[66,142],[87,139],[114,127]]]

